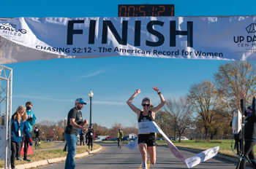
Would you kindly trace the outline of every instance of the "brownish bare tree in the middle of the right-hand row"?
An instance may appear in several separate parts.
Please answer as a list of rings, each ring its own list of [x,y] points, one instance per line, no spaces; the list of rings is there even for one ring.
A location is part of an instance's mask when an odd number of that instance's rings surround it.
[[[197,122],[205,129],[205,139],[212,125],[214,125],[214,117],[219,112],[219,91],[215,84],[209,80],[205,80],[198,84],[193,84],[189,88],[188,101],[199,116]]]

